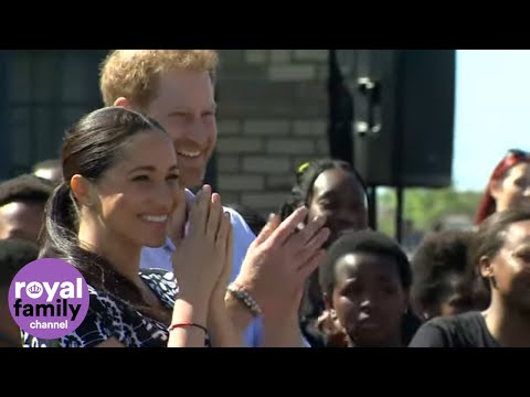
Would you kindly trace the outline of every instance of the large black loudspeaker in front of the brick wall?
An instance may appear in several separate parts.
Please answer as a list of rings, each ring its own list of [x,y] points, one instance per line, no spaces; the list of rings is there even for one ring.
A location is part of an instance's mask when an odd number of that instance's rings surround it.
[[[337,50],[352,163],[372,186],[452,184],[456,52]]]

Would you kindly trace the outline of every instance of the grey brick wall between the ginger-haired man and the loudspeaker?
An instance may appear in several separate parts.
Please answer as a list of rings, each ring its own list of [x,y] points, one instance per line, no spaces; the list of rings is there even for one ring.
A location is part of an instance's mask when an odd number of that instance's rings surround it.
[[[327,50],[220,50],[223,203],[276,211],[304,161],[326,157]]]

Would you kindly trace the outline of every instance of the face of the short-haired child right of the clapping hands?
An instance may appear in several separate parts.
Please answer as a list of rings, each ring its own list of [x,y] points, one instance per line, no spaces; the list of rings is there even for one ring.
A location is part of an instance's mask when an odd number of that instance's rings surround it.
[[[356,346],[388,346],[400,341],[409,297],[398,264],[388,256],[347,254],[339,258],[328,307]]]

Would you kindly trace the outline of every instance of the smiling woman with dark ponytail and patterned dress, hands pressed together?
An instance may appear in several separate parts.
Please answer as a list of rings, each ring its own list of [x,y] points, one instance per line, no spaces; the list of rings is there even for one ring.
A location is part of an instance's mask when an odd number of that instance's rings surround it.
[[[87,115],[66,135],[64,180],[46,207],[41,257],[75,266],[88,283],[91,303],[61,346],[163,346],[168,340],[174,346],[204,345],[204,297],[226,271],[230,255],[230,219],[219,196],[205,186],[192,208],[193,232],[182,250],[194,266],[176,269],[178,299],[172,277],[139,272],[141,247],[163,244],[170,217],[183,204],[170,142],[157,121],[120,107]],[[206,226],[215,233],[209,235]],[[198,244],[201,249],[193,249]],[[183,323],[194,325],[168,332],[169,324]],[[31,335],[24,342],[41,345]]]

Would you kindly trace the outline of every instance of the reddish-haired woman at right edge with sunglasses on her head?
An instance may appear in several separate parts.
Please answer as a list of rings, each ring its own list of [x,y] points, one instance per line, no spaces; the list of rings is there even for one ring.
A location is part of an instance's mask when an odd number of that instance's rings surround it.
[[[512,208],[530,208],[530,154],[511,149],[497,164],[478,205],[476,224]]]

